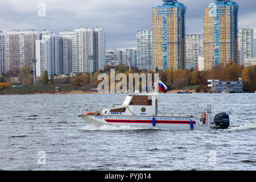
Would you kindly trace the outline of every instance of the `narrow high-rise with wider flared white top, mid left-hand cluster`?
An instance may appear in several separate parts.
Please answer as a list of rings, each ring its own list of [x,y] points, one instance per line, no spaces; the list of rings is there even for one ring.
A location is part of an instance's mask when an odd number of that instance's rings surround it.
[[[59,33],[62,39],[62,59],[63,59],[63,72],[62,74],[68,75],[72,73],[72,39],[74,36],[74,32],[72,31],[64,31]]]

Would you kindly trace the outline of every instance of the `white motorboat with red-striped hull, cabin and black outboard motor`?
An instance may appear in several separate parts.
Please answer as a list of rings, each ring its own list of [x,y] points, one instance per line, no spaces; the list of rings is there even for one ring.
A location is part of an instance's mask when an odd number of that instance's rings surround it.
[[[158,110],[158,94],[128,94],[123,104],[112,104],[101,109],[98,104],[83,104],[79,116],[91,125],[131,126],[145,129],[209,130],[227,129],[229,115],[219,113],[214,118],[211,106],[201,111],[197,118],[193,113],[171,113]]]

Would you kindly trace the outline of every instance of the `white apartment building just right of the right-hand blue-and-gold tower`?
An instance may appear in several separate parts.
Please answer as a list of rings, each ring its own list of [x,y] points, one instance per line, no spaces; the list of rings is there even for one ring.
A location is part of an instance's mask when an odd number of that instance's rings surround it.
[[[243,56],[241,54],[243,53]],[[243,63],[243,59],[254,57],[254,33],[253,28],[238,29],[238,55],[239,63]]]

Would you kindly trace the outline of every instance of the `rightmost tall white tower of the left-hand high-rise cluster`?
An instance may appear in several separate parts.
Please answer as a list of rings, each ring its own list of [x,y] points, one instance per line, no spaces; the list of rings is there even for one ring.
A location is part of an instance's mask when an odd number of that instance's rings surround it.
[[[94,71],[103,70],[106,64],[105,30],[103,28],[93,29],[93,55]]]

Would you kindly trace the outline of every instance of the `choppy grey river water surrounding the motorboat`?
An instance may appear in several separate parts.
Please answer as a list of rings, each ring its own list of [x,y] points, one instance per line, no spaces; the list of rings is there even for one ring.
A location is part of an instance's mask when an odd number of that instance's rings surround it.
[[[176,131],[86,125],[84,103],[124,94],[0,96],[0,169],[256,170],[256,94],[160,94],[159,110],[226,111],[231,127]],[[103,107],[104,108],[104,107]],[[42,164],[39,151],[46,154]]]

